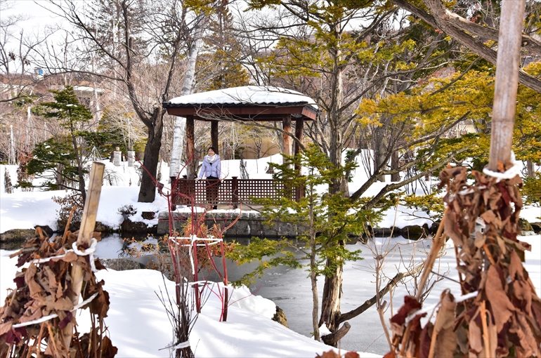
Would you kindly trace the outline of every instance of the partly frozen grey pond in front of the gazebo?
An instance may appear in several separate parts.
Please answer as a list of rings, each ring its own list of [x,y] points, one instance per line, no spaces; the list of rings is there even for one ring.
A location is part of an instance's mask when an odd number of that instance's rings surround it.
[[[150,243],[155,243],[156,239],[148,239]],[[242,241],[242,240],[238,240]],[[385,278],[382,279],[382,286],[389,279],[394,277],[398,270],[404,272],[411,268],[415,263],[421,262],[429,251],[431,240],[410,241],[403,237],[374,238],[368,244],[352,244],[347,247],[350,250],[362,250],[361,256],[364,260],[356,263],[346,263],[344,265],[344,286],[341,298],[341,312],[348,312],[365,303],[376,294],[376,277],[374,256],[384,258],[382,272]],[[99,258],[118,258],[124,257],[126,244],[119,235],[105,237],[98,243],[96,256]],[[133,258],[143,265],[152,260],[150,256]],[[217,260],[217,263],[221,260]],[[237,266],[235,263],[228,262],[228,276],[230,281],[238,279],[243,274],[253,270],[256,263]],[[434,271],[441,274],[448,272],[456,267],[455,253],[449,248],[443,256],[436,261]],[[459,296],[459,285],[457,274],[452,270],[450,277],[441,279],[434,286],[431,297],[426,300],[425,305],[431,305],[438,301],[441,291],[450,288],[455,296]],[[209,279],[216,280],[211,276]],[[321,297],[324,279],[318,279],[318,292]],[[412,281],[408,286],[400,285],[393,293],[393,300],[389,294],[384,297],[388,301],[384,319],[389,322],[391,310],[396,312],[403,303],[403,296],[415,294],[412,288]],[[262,279],[250,287],[252,293],[273,300],[278,307],[284,310],[289,328],[304,336],[311,336],[311,310],[312,293],[308,272],[305,270],[294,270],[289,267],[280,266],[267,270]],[[371,352],[376,354],[385,354],[389,351],[389,345],[384,336],[382,324],[377,314],[375,305],[349,321],[351,330],[341,340],[341,349],[353,350],[358,352]]]

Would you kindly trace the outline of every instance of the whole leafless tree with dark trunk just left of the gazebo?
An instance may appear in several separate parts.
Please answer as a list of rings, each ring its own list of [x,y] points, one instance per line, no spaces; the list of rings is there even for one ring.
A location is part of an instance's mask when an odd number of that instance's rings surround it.
[[[178,61],[190,42],[190,29],[197,27],[200,18],[181,0],[65,0],[51,1],[51,8],[75,31],[66,41],[71,51],[64,51],[64,56],[41,53],[44,66],[53,73],[77,72],[107,79],[116,88],[115,95],[129,99],[147,128],[138,201],[154,201],[164,129],[162,102],[179,91]],[[89,51],[100,61],[73,61]]]

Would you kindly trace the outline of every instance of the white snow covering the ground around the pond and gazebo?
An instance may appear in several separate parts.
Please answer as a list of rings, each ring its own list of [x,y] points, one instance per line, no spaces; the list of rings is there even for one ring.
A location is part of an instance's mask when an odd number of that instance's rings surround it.
[[[273,158],[273,161],[278,160],[278,158]],[[270,175],[265,173],[268,161],[268,158],[257,161],[247,160],[250,178],[268,178]],[[105,164],[108,176],[102,189],[96,220],[117,228],[123,220],[122,215],[118,213],[118,208],[130,204],[138,211],[132,220],[143,220],[140,217],[142,211],[166,210],[167,201],[159,196],[152,204],[137,203],[138,173],[136,168],[128,168],[124,166],[124,163],[120,167],[115,167],[109,162]],[[240,176],[238,161],[223,161],[223,168],[228,176]],[[0,166],[0,232],[11,229],[31,229],[35,225],[49,225],[51,228],[57,229],[56,211],[59,206],[51,200],[51,197],[63,196],[66,192],[39,192],[37,190],[20,192],[15,190],[13,194],[6,194],[4,191],[4,171],[6,170],[11,176],[12,183],[15,183],[16,180],[15,166]],[[162,164],[160,170],[162,178],[167,178],[169,168]],[[358,169],[354,175],[353,183],[351,183],[350,190],[352,192],[360,187],[363,178],[363,171]],[[385,183],[374,184],[367,194],[375,194],[382,185]],[[390,210],[386,213],[384,222],[380,226],[391,227],[394,223],[396,227],[403,227],[404,225],[430,223],[426,214],[424,218],[416,215],[417,217],[412,219],[412,216],[407,213],[408,208],[403,207],[399,207],[396,212],[394,209]],[[521,217],[532,222],[540,221],[541,208],[526,208],[521,212]],[[533,251],[526,253],[526,269],[537,289],[537,294],[541,295],[541,236],[535,235],[521,239],[530,242],[533,246]],[[383,241],[372,243],[374,249],[381,249],[383,246]],[[98,246],[96,256],[117,257],[118,249],[118,243],[114,240],[102,242],[102,245]],[[344,290],[344,298],[348,295],[359,296],[361,294],[371,297],[375,292],[374,272],[370,264],[372,253],[367,246],[363,246],[362,249],[363,253],[367,255],[367,260],[348,264],[344,269],[344,280],[354,282],[354,289]],[[4,302],[6,289],[14,286],[15,258],[8,258],[10,253],[9,251],[0,251],[0,302]],[[452,263],[455,260],[454,251],[448,250],[447,255],[447,262]],[[390,275],[393,275],[392,270],[396,270],[393,265],[394,263],[390,261]],[[450,266],[450,269],[454,270],[454,266]],[[306,278],[306,272],[299,272],[299,275]],[[110,312],[105,322],[109,326],[112,343],[119,347],[117,357],[167,357],[167,350],[161,349],[171,341],[171,327],[164,307],[159,303],[155,294],[159,291],[159,287],[163,286],[159,272],[152,270],[123,272],[102,270],[98,272],[97,276],[98,279],[105,280],[105,289],[110,293]],[[433,293],[436,297],[439,296],[442,285],[445,287],[445,281],[438,283],[437,289],[440,291]],[[449,285],[452,286],[452,284]],[[167,286],[172,292],[174,284],[167,281]],[[299,286],[290,289],[290,294],[294,295],[294,291],[299,290]],[[275,305],[271,300],[251,296],[247,289],[236,290],[234,294],[236,298],[242,298],[242,300],[230,308],[227,322],[219,322],[219,300],[214,295],[209,296],[190,336],[190,345],[196,357],[315,357],[315,354],[322,354],[322,352],[329,350],[328,346],[271,321],[270,317],[275,311]],[[403,296],[403,291],[398,291],[396,294]],[[396,298],[395,302],[398,307],[400,298]],[[309,302],[299,302],[298,304],[311,305]],[[344,312],[346,308],[343,307]],[[81,318],[82,326],[84,326],[84,317],[86,315]],[[370,331],[382,331],[379,319],[375,314],[363,314],[362,325]],[[348,340],[354,339],[352,335],[353,333],[349,333],[346,338]],[[379,335],[379,333],[374,333],[374,335]],[[367,343],[367,345],[369,344],[370,342]],[[361,349],[359,348],[359,350]],[[375,357],[374,354],[370,353],[361,352],[360,354],[361,357]]]

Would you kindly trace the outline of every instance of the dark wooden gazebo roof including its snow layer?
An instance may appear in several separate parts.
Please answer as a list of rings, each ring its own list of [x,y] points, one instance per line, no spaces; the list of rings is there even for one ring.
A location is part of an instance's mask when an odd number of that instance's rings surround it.
[[[194,93],[163,103],[176,116],[199,120],[240,119],[281,121],[284,115],[313,120],[318,114],[315,101],[302,93],[280,87],[242,86]],[[226,118],[224,118],[226,117]]]

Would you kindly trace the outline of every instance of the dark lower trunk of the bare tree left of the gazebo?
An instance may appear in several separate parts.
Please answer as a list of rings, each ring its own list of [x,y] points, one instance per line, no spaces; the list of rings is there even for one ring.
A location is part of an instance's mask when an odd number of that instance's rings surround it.
[[[156,197],[155,178],[159,160],[159,148],[162,146],[163,133],[163,110],[157,106],[152,112],[152,124],[148,128],[147,145],[145,147],[145,158],[143,159],[143,178],[141,178],[141,189],[137,199],[140,203],[152,203]]]

